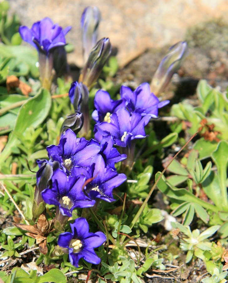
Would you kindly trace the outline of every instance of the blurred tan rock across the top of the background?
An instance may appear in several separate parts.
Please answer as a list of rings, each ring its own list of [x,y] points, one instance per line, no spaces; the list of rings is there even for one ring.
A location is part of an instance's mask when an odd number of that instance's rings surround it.
[[[102,13],[100,37],[109,37],[117,48],[120,67],[148,48],[171,46],[184,40],[189,27],[211,19],[226,18],[227,0],[9,0],[11,12],[22,24],[31,25],[50,17],[63,28],[72,25],[66,36],[75,47],[69,62],[82,67],[80,18],[89,5]]]

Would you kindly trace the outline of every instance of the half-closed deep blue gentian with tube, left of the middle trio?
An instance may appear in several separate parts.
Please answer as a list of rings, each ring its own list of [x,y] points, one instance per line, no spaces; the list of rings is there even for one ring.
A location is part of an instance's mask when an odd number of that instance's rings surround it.
[[[88,107],[89,91],[87,86],[82,84],[82,82],[80,84],[77,81],[72,82],[69,90],[69,98],[74,106],[74,109],[83,113],[84,124],[82,126],[81,135],[83,133],[87,134],[90,130],[90,116]]]

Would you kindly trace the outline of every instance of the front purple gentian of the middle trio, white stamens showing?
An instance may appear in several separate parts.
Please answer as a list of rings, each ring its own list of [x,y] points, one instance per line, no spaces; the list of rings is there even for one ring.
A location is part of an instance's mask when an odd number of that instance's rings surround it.
[[[116,113],[110,115],[110,123],[103,122],[97,125],[98,132],[95,138],[112,135],[114,144],[120,147],[130,146],[134,139],[143,139],[146,137],[144,127],[149,123],[150,115],[141,116],[139,113],[132,113],[123,107],[119,108]]]

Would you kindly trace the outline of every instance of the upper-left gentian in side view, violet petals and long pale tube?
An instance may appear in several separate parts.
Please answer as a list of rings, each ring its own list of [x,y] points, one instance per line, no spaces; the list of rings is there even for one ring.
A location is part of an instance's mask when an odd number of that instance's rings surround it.
[[[58,24],[53,24],[50,18],[44,18],[32,25],[19,27],[22,39],[36,47],[39,53],[40,77],[42,86],[50,89],[51,71],[53,68],[53,51],[55,48],[66,45],[65,35],[71,26],[64,30]]]

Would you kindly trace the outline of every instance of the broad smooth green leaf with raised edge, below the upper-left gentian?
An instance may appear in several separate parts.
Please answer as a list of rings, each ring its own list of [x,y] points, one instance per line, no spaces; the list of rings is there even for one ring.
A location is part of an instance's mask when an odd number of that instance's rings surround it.
[[[51,107],[51,97],[50,92],[45,89],[41,91],[34,97],[28,99],[27,102],[22,105],[19,110],[18,117],[14,126],[14,130],[20,132],[22,135],[24,131],[33,126],[36,128],[39,126],[44,119],[49,114]],[[13,147],[17,147],[19,140],[12,135],[9,135],[8,143],[0,154],[0,169],[4,161],[7,159],[8,155],[13,150]]]

